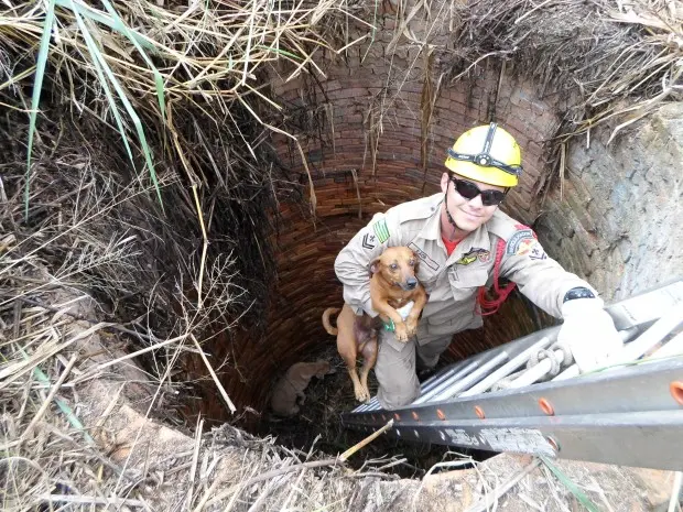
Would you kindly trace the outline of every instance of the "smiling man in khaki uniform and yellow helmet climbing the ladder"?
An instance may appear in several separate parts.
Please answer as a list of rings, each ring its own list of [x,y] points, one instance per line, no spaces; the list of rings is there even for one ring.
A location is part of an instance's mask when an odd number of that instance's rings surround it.
[[[517,285],[564,323],[566,344],[582,371],[604,363],[622,341],[603,299],[587,282],[550,258],[534,232],[498,208],[522,173],[521,151],[496,123],[463,133],[447,150],[441,193],[377,214],[339,252],[335,272],[344,301],[357,315],[377,316],[368,265],[387,247],[408,246],[420,259],[418,277],[430,295],[408,342],[380,334],[375,373],[378,400],[397,408],[420,395],[418,372],[429,372],[453,335],[483,325]],[[501,286],[499,279],[509,280]],[[494,299],[485,295],[492,287]]]

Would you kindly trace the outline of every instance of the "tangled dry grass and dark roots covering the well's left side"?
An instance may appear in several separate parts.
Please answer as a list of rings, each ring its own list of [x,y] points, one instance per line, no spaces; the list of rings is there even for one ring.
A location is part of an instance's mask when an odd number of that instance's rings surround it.
[[[131,493],[161,482],[116,462],[101,433],[84,429],[76,390],[117,374],[129,361],[121,353],[133,352],[148,373],[131,385],[152,390],[145,414],[181,423],[174,406],[191,383],[175,380],[178,359],[202,351],[191,334],[258,328],[273,272],[269,215],[300,193],[268,145],[279,106],[262,78],[278,59],[294,74],[315,67],[311,52],[327,46],[317,26],[334,30],[321,21],[340,10],[139,1],[119,2],[113,15],[107,2],[58,1],[45,32],[54,2],[4,3],[0,502],[147,508],[144,492]],[[28,116],[32,104],[41,110]],[[83,301],[89,306],[78,308]],[[90,335],[110,341],[99,356],[78,351]],[[118,363],[93,364],[112,353]],[[289,464],[272,443],[257,443],[270,446],[263,464]],[[205,491],[183,500],[197,504]]]

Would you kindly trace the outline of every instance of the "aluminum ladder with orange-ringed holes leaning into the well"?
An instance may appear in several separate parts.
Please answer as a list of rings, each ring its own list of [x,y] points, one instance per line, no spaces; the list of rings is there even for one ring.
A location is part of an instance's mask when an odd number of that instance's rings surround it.
[[[401,439],[683,470],[683,277],[606,309],[625,340],[609,368],[579,375],[555,326],[444,368],[400,410],[375,396],[343,424],[370,433],[392,421],[387,435]]]

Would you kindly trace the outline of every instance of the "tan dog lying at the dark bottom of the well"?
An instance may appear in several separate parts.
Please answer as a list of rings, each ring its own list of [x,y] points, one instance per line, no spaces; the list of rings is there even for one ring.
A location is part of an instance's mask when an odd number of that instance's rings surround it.
[[[270,399],[273,413],[279,416],[293,416],[299,412],[299,405],[304,403],[304,390],[314,377],[322,379],[335,371],[327,361],[295,362],[278,381]],[[299,400],[299,404],[296,403]]]

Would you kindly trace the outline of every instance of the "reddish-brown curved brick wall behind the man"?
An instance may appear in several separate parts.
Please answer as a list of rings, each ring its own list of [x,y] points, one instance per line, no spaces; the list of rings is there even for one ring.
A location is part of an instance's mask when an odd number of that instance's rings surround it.
[[[554,105],[541,99],[533,84],[511,74],[502,76],[502,94],[497,98],[500,63],[485,63],[467,79],[442,81],[423,141],[425,58],[410,46],[399,47],[394,58],[387,57],[390,35],[378,34],[362,64],[367,46],[347,61],[325,62],[326,76],[317,80],[302,75],[285,83],[279,78],[289,76],[285,68],[273,75],[273,90],[288,119],[281,127],[301,142],[316,208],[313,219],[305,206],[281,204],[283,229],[273,239],[279,279],[273,283],[268,335],[237,356],[241,368],[254,375],[277,375],[289,364],[334,347],[321,316],[326,307],[342,305],[333,269],[339,250],[375,213],[438,192],[446,149],[462,132],[487,123],[494,111],[522,146],[525,170],[506,209],[527,224],[538,215],[534,197],[548,175],[544,141],[554,135],[559,123]],[[430,75],[433,87],[438,73],[435,62]],[[306,188],[305,168],[293,141],[274,135],[272,143],[283,165]],[[511,299],[500,314],[487,318],[485,328],[458,335],[452,355],[467,357],[536,328],[529,306]],[[234,384],[235,394],[245,396],[245,383]],[[253,391],[251,404],[259,408],[269,390]]]

